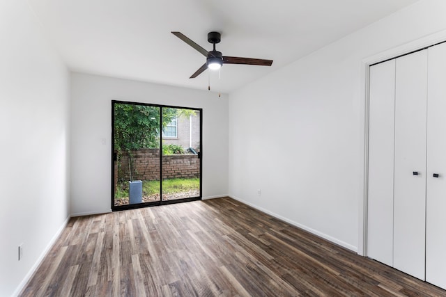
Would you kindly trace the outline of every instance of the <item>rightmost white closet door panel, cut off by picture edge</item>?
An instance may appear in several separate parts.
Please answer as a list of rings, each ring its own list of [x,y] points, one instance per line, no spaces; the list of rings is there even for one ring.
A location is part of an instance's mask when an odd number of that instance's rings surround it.
[[[446,289],[446,45],[429,49],[426,281]],[[433,177],[437,173],[438,177]]]

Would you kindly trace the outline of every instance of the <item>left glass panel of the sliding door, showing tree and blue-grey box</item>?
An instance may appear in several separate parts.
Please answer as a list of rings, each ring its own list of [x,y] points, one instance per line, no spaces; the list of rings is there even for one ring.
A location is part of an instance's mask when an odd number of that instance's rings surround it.
[[[113,102],[114,204],[159,202],[160,115],[158,106]]]

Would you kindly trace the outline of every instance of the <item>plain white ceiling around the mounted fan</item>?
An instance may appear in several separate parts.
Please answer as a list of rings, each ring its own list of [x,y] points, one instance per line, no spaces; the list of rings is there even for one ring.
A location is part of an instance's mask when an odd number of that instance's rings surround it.
[[[28,0],[70,70],[230,93],[417,0]],[[189,79],[219,31],[224,56],[272,67],[224,65]]]

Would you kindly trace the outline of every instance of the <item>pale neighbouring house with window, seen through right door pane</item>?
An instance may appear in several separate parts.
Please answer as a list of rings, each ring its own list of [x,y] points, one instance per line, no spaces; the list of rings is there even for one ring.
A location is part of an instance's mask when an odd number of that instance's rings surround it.
[[[184,149],[189,147],[200,149],[200,112],[195,115],[179,116],[175,118],[162,132],[162,143],[181,145]]]

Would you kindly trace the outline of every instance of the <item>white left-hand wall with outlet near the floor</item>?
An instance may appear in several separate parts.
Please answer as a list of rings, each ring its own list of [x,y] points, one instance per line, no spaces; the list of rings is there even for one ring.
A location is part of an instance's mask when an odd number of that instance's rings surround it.
[[[25,0],[0,1],[0,45],[0,296],[11,296],[68,219],[69,77]]]

